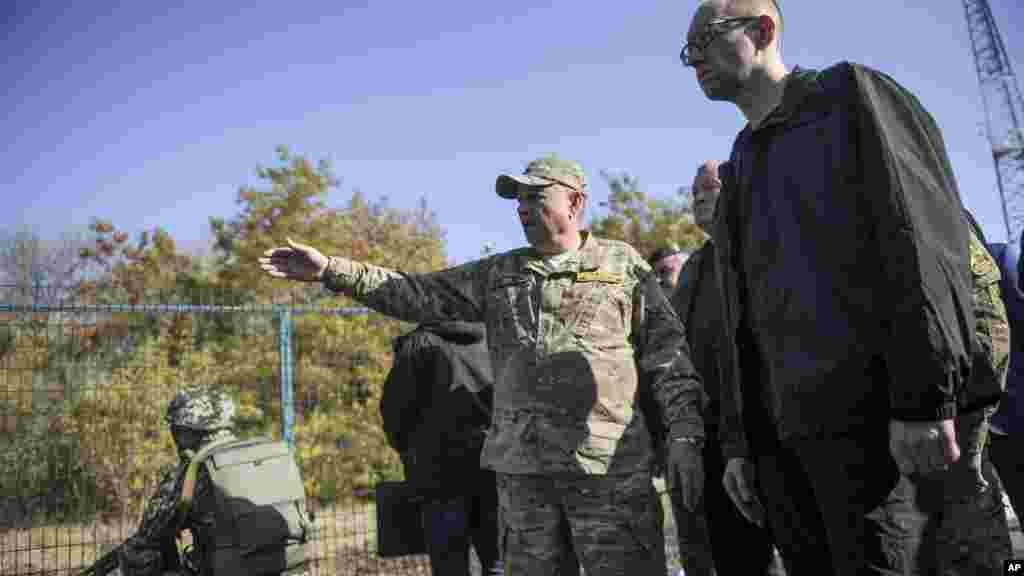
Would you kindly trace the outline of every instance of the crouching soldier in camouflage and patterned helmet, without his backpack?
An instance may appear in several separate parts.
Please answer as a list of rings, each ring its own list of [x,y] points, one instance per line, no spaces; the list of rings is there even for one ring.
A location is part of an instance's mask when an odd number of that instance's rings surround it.
[[[197,385],[179,392],[167,406],[165,421],[171,428],[178,451],[177,464],[161,470],[157,492],[150,498],[138,529],[118,549],[118,567],[123,576],[167,576],[206,573],[191,559],[184,558],[176,543],[179,530],[188,529],[197,540],[197,531],[213,524],[213,512],[204,509],[210,502],[211,488],[206,466],[199,467],[191,506],[182,519],[178,512],[185,471],[193,455],[213,444],[236,440],[231,431],[234,403],[221,389]],[[207,504],[208,507],[208,504]],[[304,574],[293,570],[290,575]]]

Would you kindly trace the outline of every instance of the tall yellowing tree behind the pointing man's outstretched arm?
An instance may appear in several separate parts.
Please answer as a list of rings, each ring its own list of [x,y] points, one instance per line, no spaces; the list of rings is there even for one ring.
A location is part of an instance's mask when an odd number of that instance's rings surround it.
[[[244,287],[256,301],[268,304],[357,305],[315,284],[266,278],[257,258],[286,238],[327,254],[407,272],[446,264],[443,230],[425,201],[400,210],[388,206],[386,198],[369,202],[353,191],[344,205],[329,205],[330,193],[339,187],[332,166],[314,164],[284,147],[278,149],[276,166],[260,167],[257,175],[259,184],[239,190],[234,216],[210,220],[216,282],[223,287]],[[390,367],[391,338],[409,328],[374,313],[295,317],[296,433],[310,494],[324,500],[346,498],[396,472],[397,458],[387,448],[377,406]],[[221,361],[240,367],[231,376],[239,386],[269,382],[271,387],[259,394],[275,402],[280,382],[267,370],[276,361],[275,349],[265,354],[242,345],[225,351]],[[276,413],[271,405],[271,414]]]

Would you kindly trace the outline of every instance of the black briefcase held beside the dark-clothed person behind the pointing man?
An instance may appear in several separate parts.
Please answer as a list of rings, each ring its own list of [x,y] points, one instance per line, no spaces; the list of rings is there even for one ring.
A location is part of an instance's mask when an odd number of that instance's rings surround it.
[[[406,482],[381,482],[377,499],[377,556],[398,558],[427,552],[420,509],[423,499]]]

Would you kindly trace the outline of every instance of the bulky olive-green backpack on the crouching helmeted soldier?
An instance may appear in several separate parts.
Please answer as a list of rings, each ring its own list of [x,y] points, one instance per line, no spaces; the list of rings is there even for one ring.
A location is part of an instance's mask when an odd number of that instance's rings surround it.
[[[280,574],[305,565],[311,525],[287,443],[231,439],[203,448],[185,472],[180,519],[193,504],[201,465],[210,475],[214,509],[214,526],[197,541],[202,574]]]

